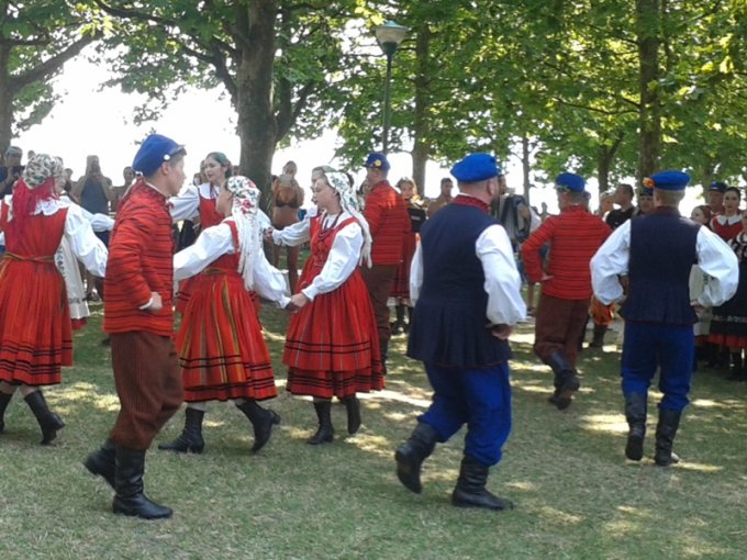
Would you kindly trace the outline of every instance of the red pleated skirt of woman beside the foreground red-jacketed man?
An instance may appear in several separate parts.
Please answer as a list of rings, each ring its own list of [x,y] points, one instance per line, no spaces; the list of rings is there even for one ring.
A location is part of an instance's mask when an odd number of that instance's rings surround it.
[[[235,265],[218,264],[193,277],[177,333],[185,401],[277,396],[269,351],[249,292]]]

